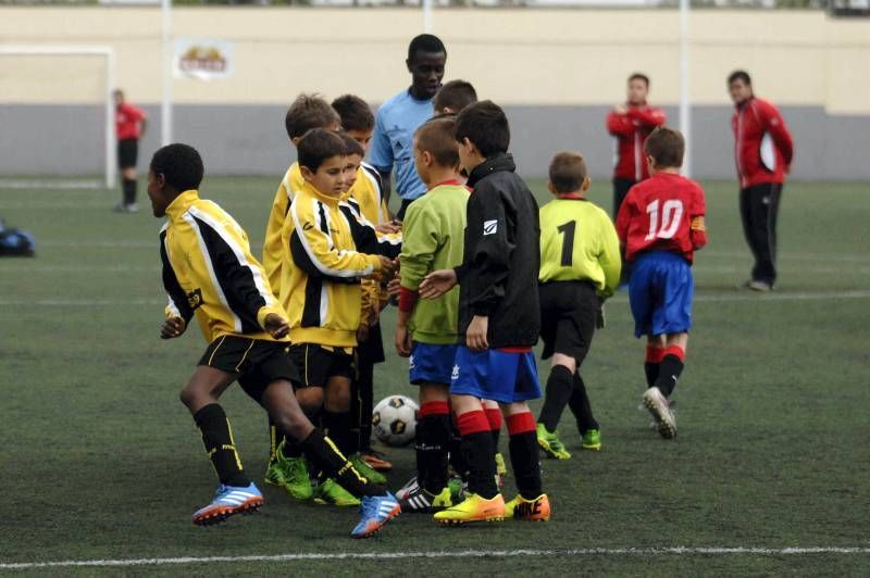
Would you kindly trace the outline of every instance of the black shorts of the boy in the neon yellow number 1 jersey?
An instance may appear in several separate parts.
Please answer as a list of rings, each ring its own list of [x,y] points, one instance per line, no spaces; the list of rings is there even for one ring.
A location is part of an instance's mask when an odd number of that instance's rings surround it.
[[[538,286],[543,359],[561,353],[574,357],[577,367],[586,359],[595,334],[598,296],[588,281],[552,281]]]

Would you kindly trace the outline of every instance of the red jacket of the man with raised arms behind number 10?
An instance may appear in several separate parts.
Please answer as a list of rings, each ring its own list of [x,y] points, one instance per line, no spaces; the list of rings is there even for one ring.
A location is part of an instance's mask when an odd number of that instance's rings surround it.
[[[657,126],[664,125],[664,111],[646,104],[627,105],[625,114],[610,112],[607,130],[617,138],[613,176],[639,183],[649,177],[644,155],[644,141]]]

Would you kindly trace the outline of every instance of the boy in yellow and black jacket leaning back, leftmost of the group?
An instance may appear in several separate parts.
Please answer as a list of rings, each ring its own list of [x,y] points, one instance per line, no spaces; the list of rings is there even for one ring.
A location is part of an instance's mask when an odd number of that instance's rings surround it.
[[[383,487],[368,482],[299,407],[293,391],[299,377],[286,353],[290,327],[284,311],[251,256],[247,234],[217,204],[199,198],[202,174],[202,159],[187,144],[157,151],[148,173],[153,214],[166,217],[160,254],[169,304],[160,337],[179,337],[196,315],[210,342],[181,393],[220,480],[214,499],[194,513],[192,522],[211,525],[263,504],[241,467],[229,420],[217,403],[238,380],[283,435],[362,498],[362,518],[351,536],[368,538],[398,515],[398,502]]]

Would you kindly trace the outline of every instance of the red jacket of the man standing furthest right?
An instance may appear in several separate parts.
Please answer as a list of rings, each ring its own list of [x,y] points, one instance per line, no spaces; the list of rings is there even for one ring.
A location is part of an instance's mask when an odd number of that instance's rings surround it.
[[[736,106],[731,128],[741,188],[782,183],[794,151],[792,135],[776,106],[751,97]]]

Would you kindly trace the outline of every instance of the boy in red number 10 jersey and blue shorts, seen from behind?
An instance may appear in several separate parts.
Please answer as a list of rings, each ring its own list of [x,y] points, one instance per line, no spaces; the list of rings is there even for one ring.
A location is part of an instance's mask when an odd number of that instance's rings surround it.
[[[704,189],[680,176],[684,151],[679,130],[654,130],[644,143],[650,178],[632,187],[617,216],[617,235],[633,262],[634,335],[647,336],[643,402],[666,439],[676,436],[668,398],[683,372],[692,327],[692,261],[707,243]]]

